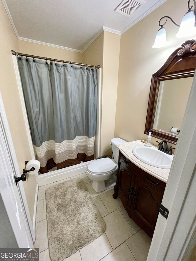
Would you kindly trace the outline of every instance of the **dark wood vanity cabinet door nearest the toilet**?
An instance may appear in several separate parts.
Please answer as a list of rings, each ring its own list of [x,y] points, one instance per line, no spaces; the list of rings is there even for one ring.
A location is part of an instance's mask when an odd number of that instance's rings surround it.
[[[119,169],[119,196],[129,207],[134,184],[134,173],[121,161]]]

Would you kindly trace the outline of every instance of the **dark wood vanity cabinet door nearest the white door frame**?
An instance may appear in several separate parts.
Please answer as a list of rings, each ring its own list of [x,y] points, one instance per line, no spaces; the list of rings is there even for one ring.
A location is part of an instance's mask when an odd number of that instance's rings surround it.
[[[153,237],[162,198],[162,192],[151,187],[138,176],[135,177],[131,216],[150,237]]]

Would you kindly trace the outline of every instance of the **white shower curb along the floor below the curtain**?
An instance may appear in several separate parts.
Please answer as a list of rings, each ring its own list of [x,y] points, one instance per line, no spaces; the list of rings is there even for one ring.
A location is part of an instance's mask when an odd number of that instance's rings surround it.
[[[76,175],[85,173],[88,165],[94,160],[88,162],[83,162],[74,166],[66,167],[60,170],[54,170],[49,173],[40,174],[37,177],[37,182],[39,187],[53,183],[55,181],[60,181],[68,177],[74,177]]]

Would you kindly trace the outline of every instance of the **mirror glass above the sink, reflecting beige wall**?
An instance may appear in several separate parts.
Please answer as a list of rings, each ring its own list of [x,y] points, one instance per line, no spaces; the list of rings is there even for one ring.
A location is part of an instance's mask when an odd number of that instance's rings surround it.
[[[153,129],[178,136],[192,82],[193,77],[160,82]]]

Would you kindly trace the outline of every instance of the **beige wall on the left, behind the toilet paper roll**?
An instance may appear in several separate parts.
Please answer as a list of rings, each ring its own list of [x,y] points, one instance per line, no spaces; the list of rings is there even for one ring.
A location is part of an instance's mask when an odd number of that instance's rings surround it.
[[[23,118],[20,96],[18,92],[16,76],[13,66],[11,49],[18,51],[19,45],[17,37],[13,31],[12,25],[7,16],[6,10],[0,1],[0,91],[3,98],[3,103],[6,110],[6,115],[9,123],[9,128],[12,135],[14,148],[16,151],[17,161],[22,173],[25,167],[25,160],[31,159],[30,149],[28,147],[28,139]],[[25,194],[31,218],[33,219],[35,192],[36,192],[36,177],[27,174],[27,181],[23,183]]]

